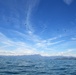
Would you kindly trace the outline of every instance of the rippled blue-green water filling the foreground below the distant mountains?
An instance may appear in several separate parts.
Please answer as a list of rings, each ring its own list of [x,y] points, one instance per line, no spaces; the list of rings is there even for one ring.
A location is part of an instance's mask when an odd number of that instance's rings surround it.
[[[76,75],[76,60],[0,57],[0,75]]]

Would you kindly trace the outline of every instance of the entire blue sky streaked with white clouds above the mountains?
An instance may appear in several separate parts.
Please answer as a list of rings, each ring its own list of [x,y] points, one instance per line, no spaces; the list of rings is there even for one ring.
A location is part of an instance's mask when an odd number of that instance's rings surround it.
[[[76,0],[0,0],[0,55],[76,56]]]

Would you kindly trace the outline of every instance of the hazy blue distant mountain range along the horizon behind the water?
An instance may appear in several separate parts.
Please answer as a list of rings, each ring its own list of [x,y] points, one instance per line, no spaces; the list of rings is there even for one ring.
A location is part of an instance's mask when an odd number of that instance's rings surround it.
[[[76,60],[76,57],[72,57],[72,56],[41,56],[39,54],[35,54],[35,55],[21,55],[21,56],[0,56],[0,58],[20,58],[20,59],[58,59],[58,60]]]

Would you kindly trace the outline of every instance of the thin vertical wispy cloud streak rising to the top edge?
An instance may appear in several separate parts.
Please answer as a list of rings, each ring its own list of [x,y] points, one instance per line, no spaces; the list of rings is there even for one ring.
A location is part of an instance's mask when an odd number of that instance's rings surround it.
[[[34,29],[31,24],[31,19],[32,19],[31,16],[33,14],[33,11],[36,10],[36,7],[38,6],[38,4],[39,4],[39,0],[27,1],[27,14],[26,14],[26,21],[25,21],[25,27],[27,32],[28,31],[34,32]]]

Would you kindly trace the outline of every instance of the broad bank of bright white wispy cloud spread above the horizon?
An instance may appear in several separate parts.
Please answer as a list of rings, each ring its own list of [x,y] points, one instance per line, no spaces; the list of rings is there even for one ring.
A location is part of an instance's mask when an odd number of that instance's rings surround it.
[[[21,32],[20,33],[18,32],[18,34],[20,34],[20,36],[23,37],[23,34],[21,34]],[[55,46],[55,44],[59,44],[64,41],[64,40],[57,41],[58,38],[59,37],[54,37],[54,38],[50,38],[47,40],[43,40],[43,39],[38,39],[35,37],[35,39],[37,39],[37,41],[36,40],[33,41],[33,42],[35,42],[35,44],[31,45],[31,44],[28,44],[27,42],[13,41],[12,39],[8,38],[6,35],[4,35],[3,33],[0,32],[0,43],[5,44],[5,45],[0,45],[0,55],[40,54],[42,56],[51,56],[51,55],[53,55],[53,56],[54,55],[55,56],[56,55],[75,56],[75,54],[74,54],[75,49],[72,49],[72,48],[64,50],[64,51],[60,51],[60,52],[59,51],[54,52],[56,50],[52,48],[52,45]],[[56,41],[52,42],[53,40],[54,41],[56,40]],[[64,46],[64,45],[62,45],[62,46]],[[49,50],[49,52],[48,52],[48,50]],[[51,54],[51,51],[53,51],[52,54]]]

